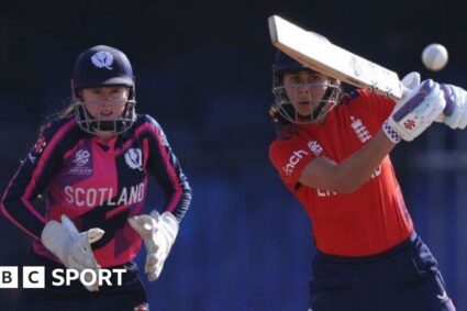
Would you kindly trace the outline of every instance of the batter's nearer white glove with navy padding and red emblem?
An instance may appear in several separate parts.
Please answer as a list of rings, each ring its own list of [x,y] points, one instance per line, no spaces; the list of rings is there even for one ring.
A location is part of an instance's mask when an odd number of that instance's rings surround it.
[[[413,141],[438,118],[445,107],[446,100],[440,85],[425,80],[413,90],[407,89],[382,130],[393,143]]]

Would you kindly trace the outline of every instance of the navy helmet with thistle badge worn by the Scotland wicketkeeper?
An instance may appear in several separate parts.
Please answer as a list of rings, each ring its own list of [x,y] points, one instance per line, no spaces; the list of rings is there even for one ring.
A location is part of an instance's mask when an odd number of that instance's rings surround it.
[[[79,91],[102,86],[130,88],[123,114],[114,120],[99,120],[88,112]],[[132,65],[126,55],[111,46],[98,45],[82,52],[76,59],[71,74],[71,95],[75,100],[75,116],[86,132],[113,131],[120,134],[129,130],[136,120],[135,86]]]

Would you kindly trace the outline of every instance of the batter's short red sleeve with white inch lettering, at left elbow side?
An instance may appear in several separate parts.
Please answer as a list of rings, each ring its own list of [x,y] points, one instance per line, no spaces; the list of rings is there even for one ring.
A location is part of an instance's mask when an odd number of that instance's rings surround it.
[[[304,142],[275,141],[269,147],[269,159],[282,181],[291,188],[299,182],[304,167],[316,157]]]

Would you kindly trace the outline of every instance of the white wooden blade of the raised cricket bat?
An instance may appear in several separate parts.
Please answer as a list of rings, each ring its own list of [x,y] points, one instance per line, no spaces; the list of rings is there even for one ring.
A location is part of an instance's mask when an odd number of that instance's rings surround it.
[[[371,89],[393,99],[402,97],[403,88],[394,71],[280,16],[270,16],[268,23],[273,45],[304,66],[358,88]]]

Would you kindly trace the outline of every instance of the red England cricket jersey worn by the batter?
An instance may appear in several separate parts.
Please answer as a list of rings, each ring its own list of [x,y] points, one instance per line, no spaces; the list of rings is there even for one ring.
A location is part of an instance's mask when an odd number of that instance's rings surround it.
[[[387,156],[354,193],[335,193],[299,182],[315,157],[336,163],[360,149],[381,129],[393,101],[366,90],[348,96],[324,124],[291,126],[269,148],[269,157],[287,188],[312,221],[318,249],[340,256],[385,252],[413,232],[392,164]]]

